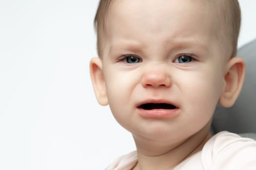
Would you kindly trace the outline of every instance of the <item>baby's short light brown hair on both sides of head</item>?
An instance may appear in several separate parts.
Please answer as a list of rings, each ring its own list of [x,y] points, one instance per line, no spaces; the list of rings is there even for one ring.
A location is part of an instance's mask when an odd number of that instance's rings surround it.
[[[208,2],[208,0],[206,0]],[[98,10],[94,19],[94,27],[97,32],[98,56],[102,56],[102,36],[106,33],[106,19],[108,10],[113,0],[100,0]],[[227,35],[228,44],[232,46],[230,57],[236,56],[237,41],[241,25],[241,11],[238,0],[211,0],[212,8],[216,8],[218,24],[224,25],[223,35]],[[217,3],[215,3],[217,2]],[[217,30],[219,31],[219,30]]]

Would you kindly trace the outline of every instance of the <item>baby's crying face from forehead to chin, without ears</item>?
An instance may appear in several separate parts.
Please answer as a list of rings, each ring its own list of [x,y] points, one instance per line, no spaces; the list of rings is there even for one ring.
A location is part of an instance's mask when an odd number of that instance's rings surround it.
[[[135,137],[178,141],[209,125],[227,57],[216,16],[204,3],[116,0],[111,6],[102,56],[108,102]]]

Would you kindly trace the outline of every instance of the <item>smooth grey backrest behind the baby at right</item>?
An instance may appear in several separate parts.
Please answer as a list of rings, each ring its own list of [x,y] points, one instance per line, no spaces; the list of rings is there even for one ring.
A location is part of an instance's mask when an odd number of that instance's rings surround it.
[[[244,85],[232,107],[217,105],[211,130],[214,134],[229,131],[256,139],[256,40],[240,48],[237,55],[246,64]]]

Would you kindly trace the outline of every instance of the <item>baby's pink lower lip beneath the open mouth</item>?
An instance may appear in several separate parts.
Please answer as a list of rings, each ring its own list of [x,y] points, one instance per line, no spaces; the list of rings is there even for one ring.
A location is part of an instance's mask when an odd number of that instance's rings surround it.
[[[176,109],[153,109],[145,110],[138,108],[138,115],[144,118],[173,118],[178,114]]]

